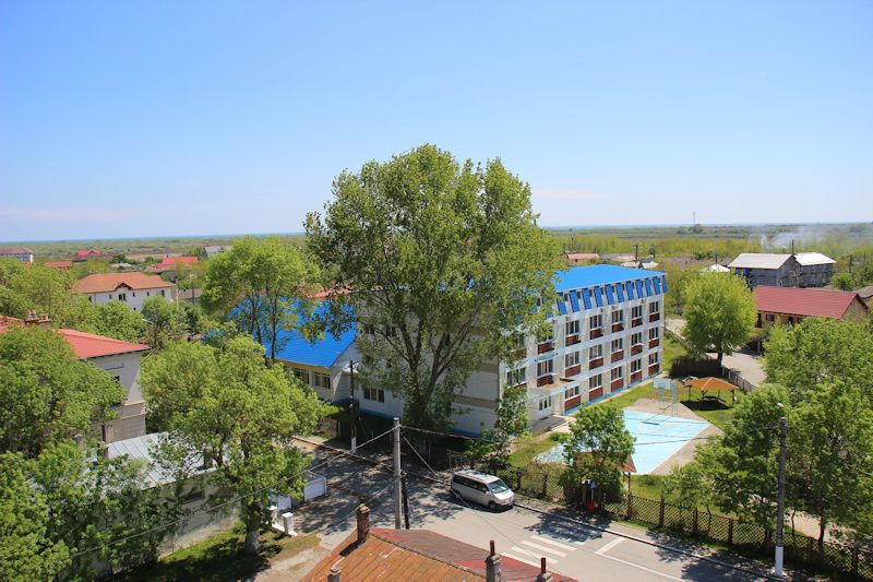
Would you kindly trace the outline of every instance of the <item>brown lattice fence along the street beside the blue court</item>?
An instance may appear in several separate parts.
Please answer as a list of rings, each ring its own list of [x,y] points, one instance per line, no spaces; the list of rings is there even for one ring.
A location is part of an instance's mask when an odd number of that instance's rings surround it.
[[[516,492],[557,503],[565,503],[564,488],[560,484],[562,471],[548,465],[527,467],[500,466],[497,460],[471,461],[469,456],[450,456],[453,468],[473,467],[501,477]],[[623,494],[609,499],[602,512],[611,518],[633,520],[662,528],[666,532],[701,541],[723,544],[745,554],[772,555],[775,533],[754,523],[738,521],[693,508],[668,503],[663,499]],[[818,541],[798,532],[785,536],[786,561],[794,566],[811,566],[822,570],[851,574],[873,580],[873,549],[840,544],[824,544],[818,551]]]

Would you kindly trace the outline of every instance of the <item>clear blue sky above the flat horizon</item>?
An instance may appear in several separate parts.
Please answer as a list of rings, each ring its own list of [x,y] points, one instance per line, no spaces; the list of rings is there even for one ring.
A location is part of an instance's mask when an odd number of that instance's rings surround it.
[[[500,156],[555,225],[873,219],[873,2],[0,3],[0,240],[299,231]]]

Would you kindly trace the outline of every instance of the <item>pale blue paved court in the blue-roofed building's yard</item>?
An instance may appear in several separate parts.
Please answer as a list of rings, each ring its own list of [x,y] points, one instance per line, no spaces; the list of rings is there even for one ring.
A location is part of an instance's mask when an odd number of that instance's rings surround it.
[[[624,427],[634,438],[634,454],[637,475],[647,475],[674,455],[689,439],[698,436],[709,423],[691,420],[666,414],[622,411]],[[563,463],[564,446],[558,444],[535,458],[543,463]]]

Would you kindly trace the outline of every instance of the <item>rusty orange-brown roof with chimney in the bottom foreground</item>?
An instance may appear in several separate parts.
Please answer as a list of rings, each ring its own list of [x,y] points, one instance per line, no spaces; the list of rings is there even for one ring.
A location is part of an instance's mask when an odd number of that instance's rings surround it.
[[[483,581],[485,559],[488,550],[440,535],[428,530],[372,528],[367,542],[356,546],[357,533],[324,558],[303,581],[327,580],[327,572],[336,568],[343,580],[356,582],[383,580],[419,580],[427,573],[429,581]],[[501,571],[505,581],[534,581],[539,573],[518,560],[501,556]],[[574,582],[552,573],[555,582]]]

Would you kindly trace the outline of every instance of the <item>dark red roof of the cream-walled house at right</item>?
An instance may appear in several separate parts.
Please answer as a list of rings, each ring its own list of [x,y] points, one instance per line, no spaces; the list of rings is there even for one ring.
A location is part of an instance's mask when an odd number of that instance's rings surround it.
[[[757,310],[769,313],[841,319],[854,300],[862,302],[854,292],[755,287]]]

